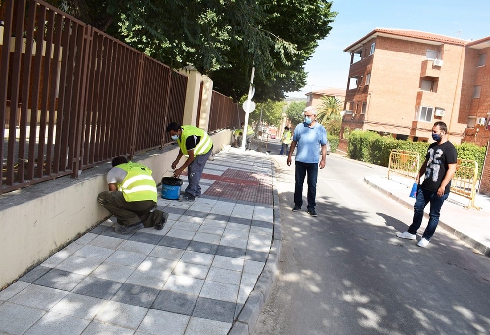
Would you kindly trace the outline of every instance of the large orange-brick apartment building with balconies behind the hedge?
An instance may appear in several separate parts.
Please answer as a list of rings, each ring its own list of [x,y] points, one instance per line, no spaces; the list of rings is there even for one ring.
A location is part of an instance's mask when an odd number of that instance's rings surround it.
[[[468,42],[377,28],[344,51],[351,64],[341,138],[350,128],[427,141],[432,124],[444,121],[451,142],[486,145],[490,37]]]

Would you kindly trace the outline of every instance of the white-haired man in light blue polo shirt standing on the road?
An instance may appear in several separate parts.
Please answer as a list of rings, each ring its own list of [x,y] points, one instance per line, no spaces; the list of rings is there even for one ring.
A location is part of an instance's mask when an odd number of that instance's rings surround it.
[[[317,216],[315,211],[315,196],[317,194],[317,175],[318,166],[320,169],[325,167],[327,157],[327,131],[325,127],[316,121],[317,112],[312,106],[304,110],[305,120],[294,129],[293,142],[287,159],[288,166],[291,166],[291,156],[294,149],[298,148],[296,153],[296,185],[294,187],[294,207],[293,211],[297,212],[303,206],[303,183],[305,176],[308,184],[308,205],[306,212],[311,216]],[[319,147],[321,145],[321,160]],[[320,163],[318,163],[320,161]]]

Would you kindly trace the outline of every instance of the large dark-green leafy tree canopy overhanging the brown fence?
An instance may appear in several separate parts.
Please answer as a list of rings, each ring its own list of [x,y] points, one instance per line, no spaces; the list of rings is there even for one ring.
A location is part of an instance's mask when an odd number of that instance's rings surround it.
[[[326,0],[49,2],[173,68],[195,67],[236,101],[252,66],[256,101],[304,86],[304,64],[337,14]]]

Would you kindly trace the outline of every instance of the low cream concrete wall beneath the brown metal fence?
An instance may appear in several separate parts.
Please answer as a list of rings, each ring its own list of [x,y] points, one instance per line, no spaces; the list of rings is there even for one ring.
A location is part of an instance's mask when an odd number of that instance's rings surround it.
[[[211,138],[217,153],[230,144],[231,131]],[[178,147],[168,145],[133,160],[151,168],[160,183],[177,154]],[[105,176],[110,168],[110,163],[102,164],[77,179],[61,177],[0,196],[0,289],[109,216],[97,195],[107,190]]]

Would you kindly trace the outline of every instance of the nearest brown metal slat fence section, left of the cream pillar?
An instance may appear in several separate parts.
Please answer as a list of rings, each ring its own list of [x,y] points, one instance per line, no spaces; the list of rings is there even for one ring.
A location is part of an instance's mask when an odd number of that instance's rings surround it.
[[[186,76],[43,1],[2,2],[0,43],[0,193],[163,146],[183,120]]]

